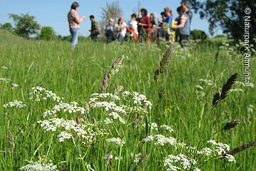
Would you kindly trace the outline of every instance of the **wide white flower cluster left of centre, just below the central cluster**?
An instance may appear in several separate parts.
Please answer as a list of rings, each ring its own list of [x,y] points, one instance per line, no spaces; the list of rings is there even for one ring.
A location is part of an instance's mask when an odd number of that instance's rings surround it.
[[[80,120],[78,124],[75,120],[64,120],[63,118],[52,118],[50,120],[39,120],[43,130],[58,133],[57,137],[60,142],[70,138],[80,138],[85,146],[97,142],[97,138],[107,134],[104,130],[95,124]]]

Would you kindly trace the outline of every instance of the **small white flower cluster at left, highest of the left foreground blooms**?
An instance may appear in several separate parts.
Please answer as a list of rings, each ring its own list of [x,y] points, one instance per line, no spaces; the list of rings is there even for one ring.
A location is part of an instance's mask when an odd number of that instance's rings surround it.
[[[63,98],[58,97],[51,90],[46,90],[46,88],[42,88],[39,86],[33,87],[30,95],[30,100],[41,102],[48,99],[56,101],[58,103],[62,102]]]

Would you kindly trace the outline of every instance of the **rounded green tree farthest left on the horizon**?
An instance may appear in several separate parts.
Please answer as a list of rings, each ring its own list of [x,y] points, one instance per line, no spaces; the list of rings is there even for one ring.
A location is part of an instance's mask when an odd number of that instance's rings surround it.
[[[29,38],[38,31],[40,31],[41,26],[35,21],[35,16],[29,16],[28,14],[9,14],[9,18],[14,20],[15,28],[14,31],[18,36],[23,36]]]

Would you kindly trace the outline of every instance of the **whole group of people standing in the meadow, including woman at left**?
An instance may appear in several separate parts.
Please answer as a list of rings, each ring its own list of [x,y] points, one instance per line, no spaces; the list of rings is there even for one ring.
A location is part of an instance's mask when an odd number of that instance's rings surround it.
[[[75,48],[78,43],[78,30],[80,23],[85,16],[78,16],[78,2],[73,2],[71,9],[68,12],[68,23],[71,33],[71,48]],[[192,13],[189,10],[187,2],[182,2],[177,8],[179,16],[174,19],[172,11],[169,7],[164,8],[161,12],[161,21],[156,24],[155,16],[151,13],[148,16],[146,9],[141,9],[141,18],[137,18],[136,14],[131,15],[131,20],[126,23],[124,17],[120,17],[117,24],[114,24],[114,19],[109,19],[105,27],[105,36],[107,42],[118,40],[124,41],[126,38],[132,38],[134,41],[146,41],[150,43],[154,40],[164,37],[166,41],[178,41],[182,47],[188,46],[190,36],[190,26]],[[100,29],[94,16],[90,16],[91,28],[90,37],[92,41],[97,41],[97,36],[100,34]]]

